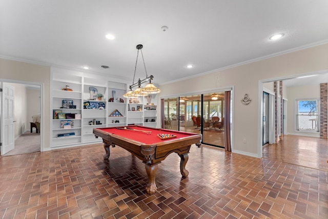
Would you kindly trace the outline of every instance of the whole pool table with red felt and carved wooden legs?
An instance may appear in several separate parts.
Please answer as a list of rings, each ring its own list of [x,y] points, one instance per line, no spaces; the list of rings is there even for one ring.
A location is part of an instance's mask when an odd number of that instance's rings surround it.
[[[149,128],[144,126],[125,126],[111,128],[95,128],[96,138],[103,138],[106,154],[104,160],[110,156],[110,146],[120,146],[138,157],[143,163],[148,176],[146,191],[148,194],[156,192],[155,175],[158,164],[165,160],[170,153],[180,156],[180,172],[188,177],[186,164],[188,153],[192,144],[200,147],[201,134],[181,132],[168,129]],[[160,137],[159,134],[168,136]]]

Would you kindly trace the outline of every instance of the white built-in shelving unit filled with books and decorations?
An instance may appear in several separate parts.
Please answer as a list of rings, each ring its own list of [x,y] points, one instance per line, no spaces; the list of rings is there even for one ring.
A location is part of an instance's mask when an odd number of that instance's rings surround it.
[[[100,142],[93,128],[130,124],[157,127],[156,94],[124,98],[127,84],[112,82],[110,77],[59,68],[52,68],[51,74],[51,147]],[[97,93],[104,97],[98,100]]]

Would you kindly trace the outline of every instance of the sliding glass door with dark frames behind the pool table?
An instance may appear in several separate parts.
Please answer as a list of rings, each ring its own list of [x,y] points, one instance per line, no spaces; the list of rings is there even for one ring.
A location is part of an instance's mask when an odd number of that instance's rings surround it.
[[[224,147],[224,92],[163,99],[163,128],[201,133],[203,144]]]

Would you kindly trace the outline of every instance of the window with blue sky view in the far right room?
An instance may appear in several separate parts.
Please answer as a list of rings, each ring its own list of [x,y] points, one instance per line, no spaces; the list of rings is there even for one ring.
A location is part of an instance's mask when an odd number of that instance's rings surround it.
[[[296,99],[296,130],[319,131],[319,99]]]

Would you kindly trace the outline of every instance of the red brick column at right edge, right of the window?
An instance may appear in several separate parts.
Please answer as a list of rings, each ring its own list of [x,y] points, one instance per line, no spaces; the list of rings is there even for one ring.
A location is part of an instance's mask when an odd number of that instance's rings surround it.
[[[320,84],[320,137],[327,138],[328,83]]]

